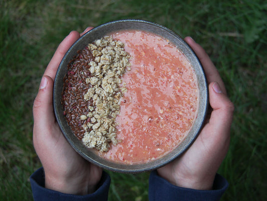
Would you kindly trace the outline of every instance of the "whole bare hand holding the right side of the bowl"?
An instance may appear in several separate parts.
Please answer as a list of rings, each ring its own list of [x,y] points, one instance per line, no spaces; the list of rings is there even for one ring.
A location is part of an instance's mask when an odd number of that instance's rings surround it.
[[[174,185],[193,189],[211,189],[215,174],[230,142],[233,103],[228,99],[220,75],[204,51],[191,37],[185,40],[199,57],[209,83],[212,112],[190,148],[171,163],[159,168],[158,174]]]

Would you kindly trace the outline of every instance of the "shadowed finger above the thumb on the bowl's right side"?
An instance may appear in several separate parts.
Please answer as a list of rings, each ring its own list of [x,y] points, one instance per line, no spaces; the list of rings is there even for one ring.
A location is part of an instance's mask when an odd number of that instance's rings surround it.
[[[219,75],[219,72],[215,67],[215,65],[213,64],[213,62],[210,60],[205,50],[198,43],[196,43],[191,37],[185,37],[184,39],[192,47],[197,57],[199,58],[200,62],[202,63],[203,68],[205,70],[205,74],[207,76],[208,83],[212,81],[218,82],[222,91],[226,94],[226,89]]]

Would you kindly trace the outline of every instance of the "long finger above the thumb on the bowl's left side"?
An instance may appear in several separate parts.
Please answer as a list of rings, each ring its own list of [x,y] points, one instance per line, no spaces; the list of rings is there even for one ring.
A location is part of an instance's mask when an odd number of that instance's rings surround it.
[[[50,76],[53,80],[55,79],[57,69],[59,67],[59,64],[63,56],[71,47],[71,45],[79,38],[80,38],[80,33],[77,31],[71,31],[70,34],[67,37],[65,37],[65,39],[59,44],[55,54],[53,55],[51,61],[49,62],[44,75]]]

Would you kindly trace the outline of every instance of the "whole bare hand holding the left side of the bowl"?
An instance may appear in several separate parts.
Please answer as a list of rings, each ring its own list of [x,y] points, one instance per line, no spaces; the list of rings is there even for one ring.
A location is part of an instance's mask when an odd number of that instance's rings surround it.
[[[53,82],[61,59],[83,33],[72,31],[60,43],[48,64],[35,98],[33,141],[44,166],[46,188],[71,194],[94,192],[102,169],[81,157],[68,143],[53,111]]]

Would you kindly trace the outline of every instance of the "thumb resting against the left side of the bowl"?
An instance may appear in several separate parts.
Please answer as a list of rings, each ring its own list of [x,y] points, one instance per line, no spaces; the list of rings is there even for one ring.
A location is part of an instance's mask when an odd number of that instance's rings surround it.
[[[45,75],[42,77],[39,92],[33,106],[34,121],[36,125],[51,125],[55,122],[53,110],[53,79]]]

